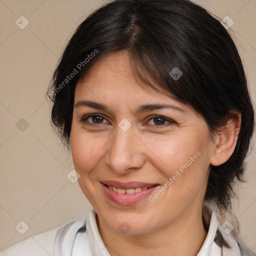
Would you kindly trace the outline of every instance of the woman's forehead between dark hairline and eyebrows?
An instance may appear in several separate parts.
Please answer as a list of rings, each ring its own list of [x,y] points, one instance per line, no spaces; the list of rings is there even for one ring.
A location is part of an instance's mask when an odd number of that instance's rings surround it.
[[[175,100],[170,92],[167,93],[155,83],[154,85],[159,90],[139,81],[134,76],[129,54],[118,51],[100,57],[86,71],[76,84],[74,101],[94,100],[104,105],[115,105],[119,109],[146,103],[171,103],[184,111],[192,110]]]

